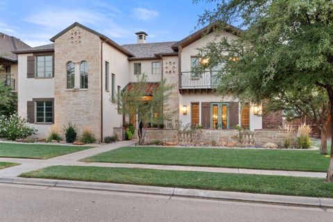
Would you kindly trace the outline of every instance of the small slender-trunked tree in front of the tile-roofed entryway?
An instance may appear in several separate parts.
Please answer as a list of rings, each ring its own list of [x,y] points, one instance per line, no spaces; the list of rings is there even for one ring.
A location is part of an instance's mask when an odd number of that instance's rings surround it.
[[[146,74],[138,77],[137,83],[121,92],[119,112],[128,117],[137,117],[138,143],[143,144],[146,130],[150,126],[163,126],[174,112],[167,109],[168,100],[174,85],[161,80],[160,83],[148,83]],[[142,130],[138,126],[142,124]]]

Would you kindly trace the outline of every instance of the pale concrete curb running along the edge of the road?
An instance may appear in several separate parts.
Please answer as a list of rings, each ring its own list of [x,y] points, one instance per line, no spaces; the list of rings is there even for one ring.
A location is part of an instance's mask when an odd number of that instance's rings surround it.
[[[187,198],[209,198],[216,200],[234,200],[252,203],[268,203],[276,205],[293,205],[303,207],[333,208],[333,198],[316,198],[305,196],[283,196],[271,194],[251,194],[234,191],[213,191],[203,189],[183,189],[173,187],[153,187],[142,185],[125,185],[106,182],[85,182],[76,180],[51,180],[39,178],[2,177],[0,183],[17,185],[37,185],[47,187],[63,187],[76,189],[92,189],[103,191],[121,191],[139,194],[159,194]]]

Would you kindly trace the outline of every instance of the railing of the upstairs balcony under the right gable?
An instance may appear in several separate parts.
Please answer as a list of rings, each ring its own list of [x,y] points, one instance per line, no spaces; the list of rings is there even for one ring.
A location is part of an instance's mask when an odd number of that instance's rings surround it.
[[[213,89],[218,85],[219,71],[183,71],[180,76],[181,89]]]

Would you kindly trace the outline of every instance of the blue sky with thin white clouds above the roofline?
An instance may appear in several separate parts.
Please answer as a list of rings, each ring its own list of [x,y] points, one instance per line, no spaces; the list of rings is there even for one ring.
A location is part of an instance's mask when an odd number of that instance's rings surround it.
[[[0,32],[30,46],[79,22],[118,44],[136,43],[135,33],[148,33],[147,42],[178,41],[194,31],[198,15],[214,4],[192,0],[0,0]]]

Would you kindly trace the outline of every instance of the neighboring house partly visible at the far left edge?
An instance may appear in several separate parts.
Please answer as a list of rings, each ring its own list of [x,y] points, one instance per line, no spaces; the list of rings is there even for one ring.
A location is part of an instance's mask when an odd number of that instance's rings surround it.
[[[0,33],[0,84],[17,89],[17,55],[12,51],[27,48],[31,47],[17,37]]]

